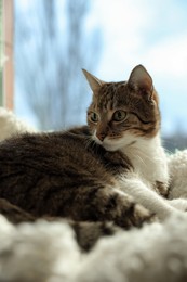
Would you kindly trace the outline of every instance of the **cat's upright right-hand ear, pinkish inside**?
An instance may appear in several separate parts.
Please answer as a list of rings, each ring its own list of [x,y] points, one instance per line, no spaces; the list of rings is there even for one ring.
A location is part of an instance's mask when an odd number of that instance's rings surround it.
[[[128,85],[135,91],[147,94],[148,100],[152,99],[152,78],[143,65],[137,65],[134,67],[128,80]]]

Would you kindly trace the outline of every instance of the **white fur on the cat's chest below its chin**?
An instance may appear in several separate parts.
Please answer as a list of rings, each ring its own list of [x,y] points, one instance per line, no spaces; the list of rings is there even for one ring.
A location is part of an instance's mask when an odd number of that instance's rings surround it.
[[[123,152],[131,159],[135,172],[146,184],[169,181],[166,155],[159,134],[152,139],[138,137],[136,142],[126,145]]]

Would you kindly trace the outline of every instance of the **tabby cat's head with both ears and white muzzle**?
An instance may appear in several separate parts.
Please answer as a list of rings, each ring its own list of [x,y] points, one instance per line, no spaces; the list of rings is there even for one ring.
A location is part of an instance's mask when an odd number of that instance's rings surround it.
[[[144,66],[137,65],[129,79],[120,82],[104,82],[83,73],[93,91],[88,125],[96,143],[116,151],[158,133],[159,99]]]

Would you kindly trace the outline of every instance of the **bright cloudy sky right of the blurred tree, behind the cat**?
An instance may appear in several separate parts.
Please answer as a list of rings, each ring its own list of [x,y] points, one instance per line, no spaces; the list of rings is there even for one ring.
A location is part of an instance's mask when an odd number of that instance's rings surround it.
[[[30,2],[18,1],[25,8]],[[86,28],[99,26],[103,42],[94,74],[106,81],[125,80],[135,65],[143,64],[160,94],[162,131],[187,134],[187,1],[91,2]],[[16,112],[22,116],[18,102]]]

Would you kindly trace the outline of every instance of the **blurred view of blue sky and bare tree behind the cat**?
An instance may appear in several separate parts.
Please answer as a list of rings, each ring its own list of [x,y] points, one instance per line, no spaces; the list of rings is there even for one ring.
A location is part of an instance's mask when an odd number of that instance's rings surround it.
[[[126,80],[143,64],[169,151],[187,148],[187,1],[14,0],[14,108],[43,130],[85,123],[85,68]]]

